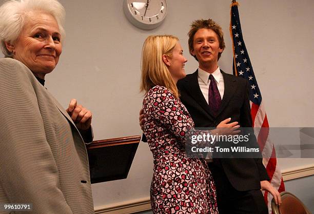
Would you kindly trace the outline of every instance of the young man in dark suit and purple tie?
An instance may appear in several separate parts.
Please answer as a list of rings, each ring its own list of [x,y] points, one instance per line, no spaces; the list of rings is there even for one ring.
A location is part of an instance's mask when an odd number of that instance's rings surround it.
[[[188,35],[189,52],[199,68],[177,86],[195,127],[217,127],[228,118],[230,123],[252,127],[248,82],[218,66],[225,48],[221,27],[210,19],[197,20]],[[261,188],[280,201],[279,192],[268,182],[261,158],[213,159],[208,166],[217,188],[220,214],[268,213]]]

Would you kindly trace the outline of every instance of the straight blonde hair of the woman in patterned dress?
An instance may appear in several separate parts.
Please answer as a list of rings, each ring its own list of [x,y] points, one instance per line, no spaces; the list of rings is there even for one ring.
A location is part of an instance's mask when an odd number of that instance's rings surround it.
[[[163,54],[172,57],[172,51],[179,41],[173,35],[151,35],[144,42],[142,49],[141,91],[148,92],[159,85],[168,88],[178,99],[179,92],[171,74],[163,62]]]

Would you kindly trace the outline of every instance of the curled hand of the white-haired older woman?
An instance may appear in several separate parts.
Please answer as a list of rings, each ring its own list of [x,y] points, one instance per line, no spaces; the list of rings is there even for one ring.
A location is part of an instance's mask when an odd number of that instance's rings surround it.
[[[69,107],[66,110],[71,116],[71,119],[75,123],[77,129],[87,130],[90,127],[92,113],[82,105],[77,105],[75,99],[71,99]]]

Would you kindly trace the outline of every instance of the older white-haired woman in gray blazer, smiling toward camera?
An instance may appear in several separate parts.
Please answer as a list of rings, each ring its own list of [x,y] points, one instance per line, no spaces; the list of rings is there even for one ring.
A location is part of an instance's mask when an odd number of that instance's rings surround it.
[[[0,204],[32,204],[16,213],[94,213],[91,112],[74,99],[65,110],[44,87],[62,52],[64,17],[56,0],[0,7]]]

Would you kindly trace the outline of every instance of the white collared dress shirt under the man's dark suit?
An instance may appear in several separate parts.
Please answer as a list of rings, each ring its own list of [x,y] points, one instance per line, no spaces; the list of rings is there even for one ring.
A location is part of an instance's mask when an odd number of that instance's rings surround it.
[[[217,87],[221,96],[221,100],[222,100],[224,96],[224,91],[225,91],[225,84],[224,84],[224,77],[222,73],[220,72],[219,66],[211,74],[213,75],[216,81],[216,84],[217,84]],[[209,89],[209,84],[210,84],[209,75],[210,73],[199,68],[199,72],[198,72],[199,85],[207,103],[208,103],[208,89]]]

